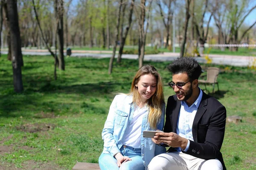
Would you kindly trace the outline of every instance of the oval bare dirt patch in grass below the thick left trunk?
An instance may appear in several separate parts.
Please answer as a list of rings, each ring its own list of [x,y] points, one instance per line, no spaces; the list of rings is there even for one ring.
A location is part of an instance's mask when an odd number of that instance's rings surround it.
[[[17,130],[23,131],[23,132],[29,132],[29,133],[37,133],[37,132],[45,132],[48,130],[54,129],[54,124],[49,123],[35,123],[35,124],[25,124],[16,127]]]

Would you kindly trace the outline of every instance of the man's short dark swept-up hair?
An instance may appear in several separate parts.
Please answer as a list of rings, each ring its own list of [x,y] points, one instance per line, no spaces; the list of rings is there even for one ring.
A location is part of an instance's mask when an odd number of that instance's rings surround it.
[[[180,73],[188,74],[190,81],[194,79],[198,79],[202,73],[201,66],[192,57],[177,58],[167,66],[167,69],[172,74],[180,74]]]

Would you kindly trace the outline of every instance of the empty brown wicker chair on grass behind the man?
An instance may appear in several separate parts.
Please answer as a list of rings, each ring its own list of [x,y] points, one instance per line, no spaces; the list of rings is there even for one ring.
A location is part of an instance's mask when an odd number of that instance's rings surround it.
[[[218,78],[218,74],[220,72],[219,68],[216,67],[209,67],[207,68],[207,79],[203,80],[203,79],[198,79],[198,84],[204,84],[205,90],[207,90],[206,85],[212,84],[212,93],[214,92],[214,86],[215,84],[217,84],[218,87],[218,82],[217,82],[217,78]],[[219,88],[218,88],[219,91]],[[209,92],[209,91],[208,91]]]

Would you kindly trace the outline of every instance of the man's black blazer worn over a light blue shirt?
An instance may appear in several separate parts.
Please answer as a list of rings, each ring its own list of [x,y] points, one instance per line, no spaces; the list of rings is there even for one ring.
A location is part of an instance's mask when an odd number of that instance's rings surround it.
[[[177,133],[177,120],[181,103],[176,95],[168,98],[164,132]],[[226,108],[217,99],[203,92],[201,103],[192,125],[194,141],[190,140],[189,149],[184,152],[201,159],[218,159],[226,170],[220,152],[226,125]],[[167,152],[172,152],[170,147]]]

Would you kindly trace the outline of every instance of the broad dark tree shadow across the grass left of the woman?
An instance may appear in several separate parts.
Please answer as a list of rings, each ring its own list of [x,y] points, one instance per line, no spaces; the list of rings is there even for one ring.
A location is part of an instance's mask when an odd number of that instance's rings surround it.
[[[110,101],[108,96],[112,97],[118,91],[128,91],[130,84],[127,82],[99,82],[81,85],[61,86],[54,85],[51,82],[43,82],[39,90],[35,90],[33,85],[39,82],[32,82],[31,88],[26,89],[21,94],[9,92],[0,100],[0,117],[33,117],[44,118],[48,112],[52,112],[55,116],[61,113],[95,113],[105,114],[107,108],[97,104],[97,97]],[[42,83],[42,82],[40,82]],[[125,89],[125,90],[124,90]],[[89,98],[90,102],[74,104],[69,101],[76,101],[76,96],[65,96],[61,94],[84,94],[85,98]],[[104,99],[105,98],[105,99]],[[45,102],[47,101],[47,102]],[[66,102],[67,101],[67,102]],[[93,103],[95,102],[95,103]],[[75,106],[76,105],[76,106]],[[80,105],[80,107],[77,105]],[[72,109],[73,111],[70,111]],[[29,113],[26,113],[29,111]],[[41,112],[44,114],[41,114]]]

